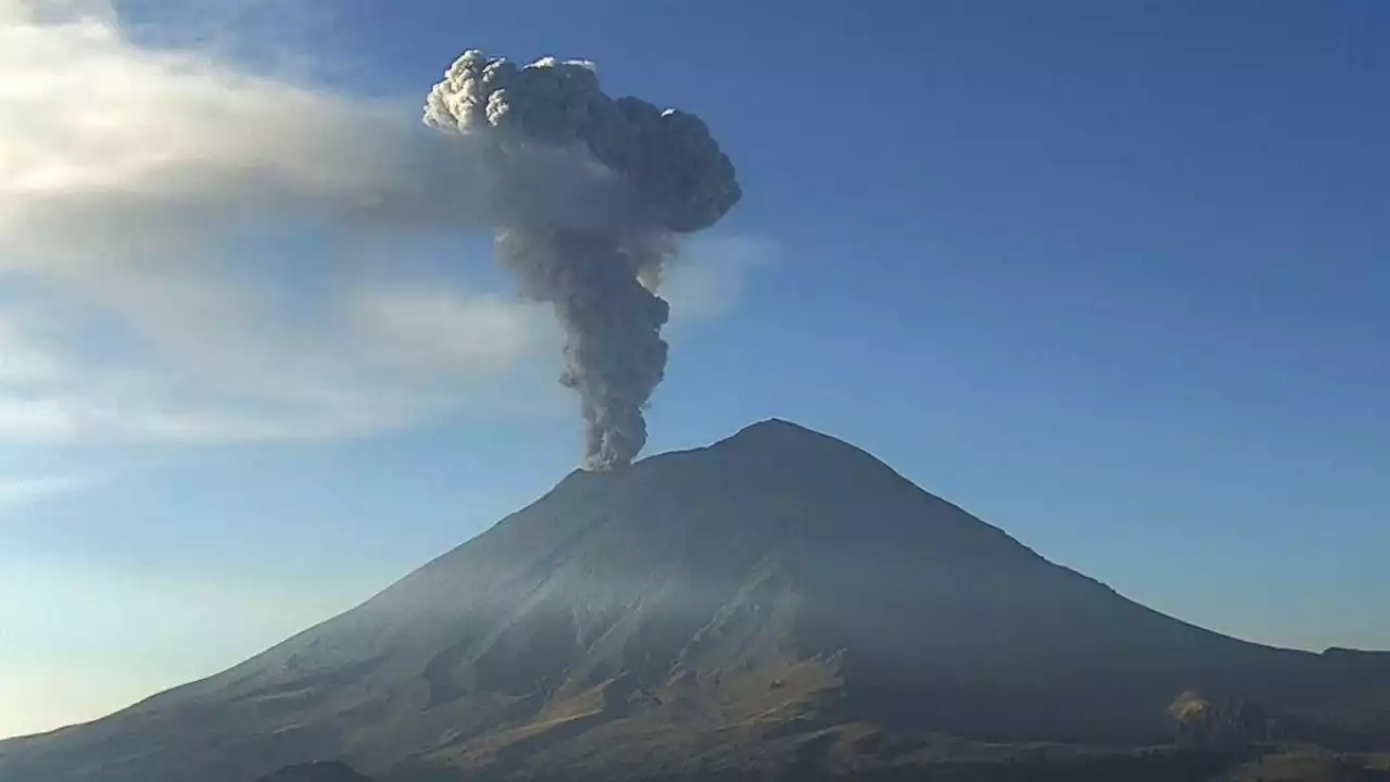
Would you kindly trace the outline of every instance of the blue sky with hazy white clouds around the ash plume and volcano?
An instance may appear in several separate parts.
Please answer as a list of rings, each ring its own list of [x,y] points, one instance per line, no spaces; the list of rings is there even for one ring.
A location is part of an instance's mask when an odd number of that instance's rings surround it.
[[[1390,648],[1383,3],[56,6],[0,0],[0,735],[234,664],[573,468],[485,237],[336,218],[411,198],[467,47],[594,60],[738,164],[648,452],[792,419],[1158,609]]]

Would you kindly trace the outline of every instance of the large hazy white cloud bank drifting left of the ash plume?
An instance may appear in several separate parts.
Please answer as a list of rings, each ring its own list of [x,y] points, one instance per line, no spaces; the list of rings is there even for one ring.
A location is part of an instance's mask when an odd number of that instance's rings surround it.
[[[313,262],[461,209],[416,113],[0,0],[0,440],[361,434],[509,372],[534,308]]]

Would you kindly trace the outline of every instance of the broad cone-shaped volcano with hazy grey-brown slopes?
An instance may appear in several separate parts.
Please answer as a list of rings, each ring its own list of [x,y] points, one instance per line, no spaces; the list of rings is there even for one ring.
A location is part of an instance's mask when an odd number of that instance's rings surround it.
[[[773,420],[575,472],[224,673],[0,743],[0,779],[245,782],[328,758],[399,779],[856,768],[929,733],[1170,740],[1188,690],[1371,712],[1390,660],[1156,614]]]

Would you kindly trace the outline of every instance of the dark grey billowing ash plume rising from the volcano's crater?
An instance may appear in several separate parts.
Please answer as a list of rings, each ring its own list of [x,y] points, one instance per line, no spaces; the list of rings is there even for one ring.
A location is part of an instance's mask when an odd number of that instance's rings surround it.
[[[566,331],[562,383],[582,401],[585,466],[631,462],[666,372],[662,263],[678,234],[738,202],[733,163],[694,114],[609,97],[580,61],[467,51],[424,121],[484,150],[498,259]]]

